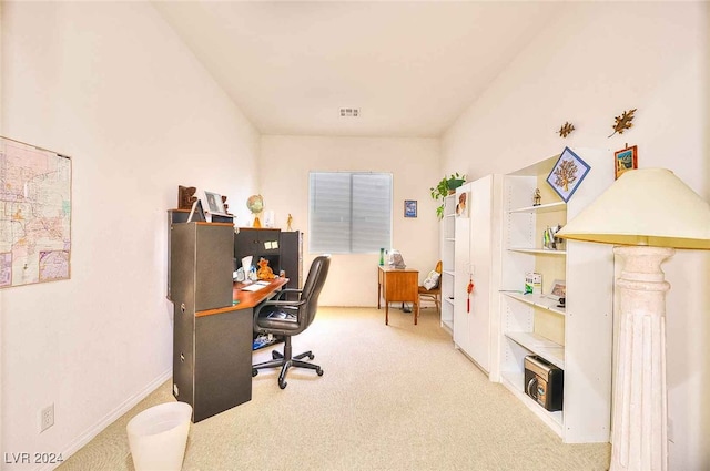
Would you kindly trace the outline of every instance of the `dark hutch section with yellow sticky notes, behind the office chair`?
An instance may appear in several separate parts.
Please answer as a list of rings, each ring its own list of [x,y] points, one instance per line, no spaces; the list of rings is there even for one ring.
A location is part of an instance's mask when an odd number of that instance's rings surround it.
[[[254,265],[260,257],[268,260],[268,266],[278,275],[286,272],[286,288],[301,289],[303,277],[303,233],[300,231],[281,231],[273,228],[240,227],[234,235],[234,258],[236,266],[242,265],[242,257],[254,257]]]

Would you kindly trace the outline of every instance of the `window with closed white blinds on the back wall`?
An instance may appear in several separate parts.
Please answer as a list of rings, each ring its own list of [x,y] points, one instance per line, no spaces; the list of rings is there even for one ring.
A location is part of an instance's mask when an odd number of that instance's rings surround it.
[[[372,254],[392,246],[392,174],[311,172],[308,250]]]

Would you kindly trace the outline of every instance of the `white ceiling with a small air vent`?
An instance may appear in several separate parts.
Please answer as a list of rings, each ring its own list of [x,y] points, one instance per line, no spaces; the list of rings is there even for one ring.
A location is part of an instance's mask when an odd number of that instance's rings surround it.
[[[560,6],[154,4],[262,134],[407,137],[439,136]]]

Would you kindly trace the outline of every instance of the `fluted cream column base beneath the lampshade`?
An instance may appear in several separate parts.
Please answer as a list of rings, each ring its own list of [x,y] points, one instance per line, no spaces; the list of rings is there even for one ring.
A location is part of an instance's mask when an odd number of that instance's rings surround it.
[[[610,471],[667,471],[666,291],[673,248],[615,247],[623,258]]]

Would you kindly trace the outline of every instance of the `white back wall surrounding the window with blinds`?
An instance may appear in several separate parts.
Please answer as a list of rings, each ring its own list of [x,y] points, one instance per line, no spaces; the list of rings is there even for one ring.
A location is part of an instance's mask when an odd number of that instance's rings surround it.
[[[419,281],[438,260],[436,204],[429,194],[439,175],[436,139],[262,136],[261,184],[265,209],[275,212],[276,226],[304,232],[305,277],[318,254],[308,254],[308,172],[392,172],[394,182],[393,247]],[[404,217],[404,201],[418,201],[418,217]],[[390,247],[387,247],[390,248]],[[376,306],[379,254],[333,255],[320,303],[326,306]],[[384,319],[384,315],[383,315]]]

